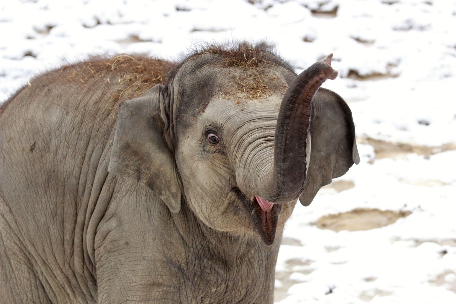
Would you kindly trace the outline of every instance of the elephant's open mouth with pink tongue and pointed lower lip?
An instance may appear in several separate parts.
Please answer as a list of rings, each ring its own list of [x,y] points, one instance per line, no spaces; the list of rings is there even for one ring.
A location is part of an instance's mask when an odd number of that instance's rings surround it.
[[[265,201],[259,196],[255,196],[253,205],[252,216],[256,229],[264,244],[270,246],[274,243],[281,205]]]

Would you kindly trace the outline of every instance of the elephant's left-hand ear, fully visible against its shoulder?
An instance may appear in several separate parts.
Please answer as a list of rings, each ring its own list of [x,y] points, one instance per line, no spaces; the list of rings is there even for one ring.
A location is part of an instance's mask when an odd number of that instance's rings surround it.
[[[166,87],[156,85],[140,97],[120,103],[108,171],[145,185],[172,212],[178,212],[181,184],[164,136],[166,98]]]

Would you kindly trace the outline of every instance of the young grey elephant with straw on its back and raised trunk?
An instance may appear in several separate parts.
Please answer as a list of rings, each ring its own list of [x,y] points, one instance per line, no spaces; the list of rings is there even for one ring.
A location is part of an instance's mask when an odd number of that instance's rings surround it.
[[[32,78],[0,108],[0,302],[273,303],[298,198],[359,162],[331,60],[241,42]]]

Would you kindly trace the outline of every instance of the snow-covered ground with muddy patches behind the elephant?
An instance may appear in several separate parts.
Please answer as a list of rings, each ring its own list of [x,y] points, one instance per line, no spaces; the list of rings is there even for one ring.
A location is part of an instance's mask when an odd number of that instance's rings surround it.
[[[362,158],[296,206],[277,303],[456,303],[454,0],[1,1],[0,101],[90,54],[233,39],[274,42],[297,72],[333,52],[323,86],[352,108]]]

